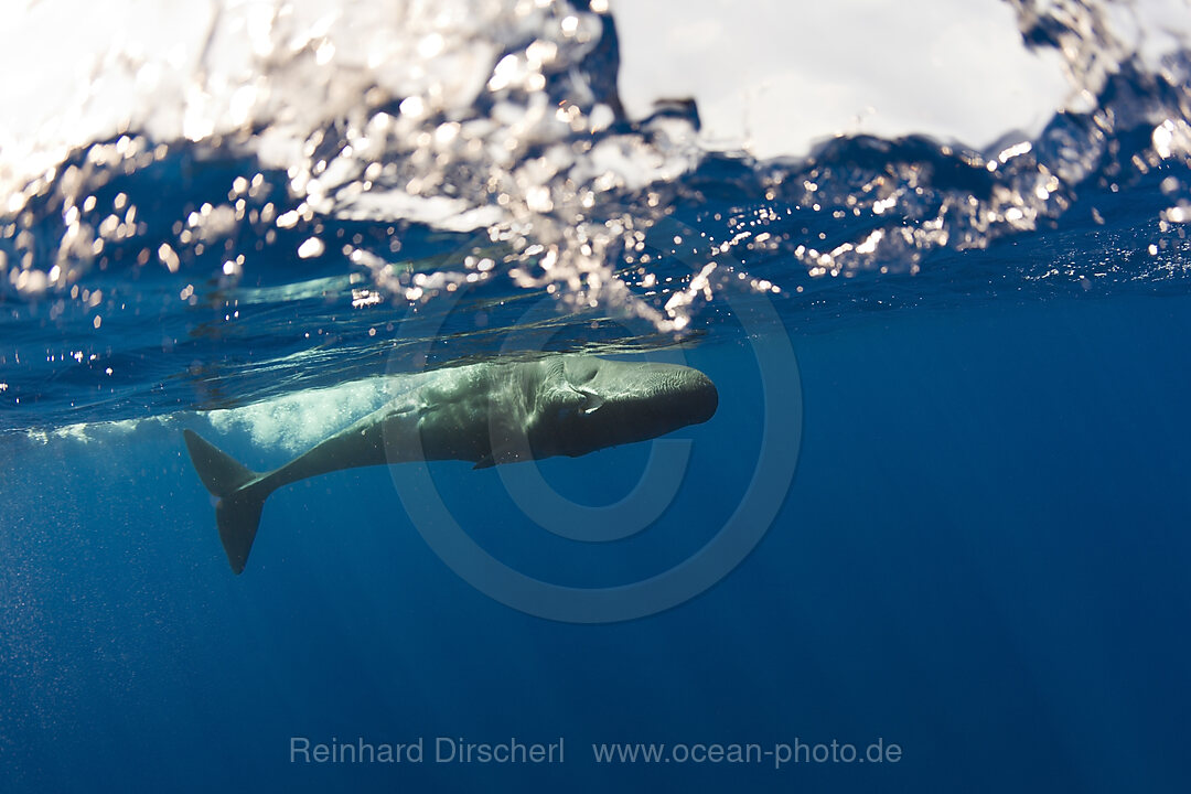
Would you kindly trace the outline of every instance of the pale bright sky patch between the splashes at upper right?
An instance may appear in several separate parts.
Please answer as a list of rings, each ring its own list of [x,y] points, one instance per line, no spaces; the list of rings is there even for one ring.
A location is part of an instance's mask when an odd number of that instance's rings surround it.
[[[1072,87],[1000,0],[654,0],[612,6],[634,117],[694,98],[704,139],[761,158],[838,133],[972,146],[1034,133]]]

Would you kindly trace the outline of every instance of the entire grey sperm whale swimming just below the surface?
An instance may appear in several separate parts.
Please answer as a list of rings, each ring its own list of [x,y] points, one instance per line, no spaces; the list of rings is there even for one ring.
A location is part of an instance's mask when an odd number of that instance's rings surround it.
[[[470,461],[481,469],[574,457],[706,421],[719,404],[706,375],[678,364],[556,355],[434,375],[273,471],[254,471],[183,431],[194,469],[218,496],[216,523],[231,569],[239,574],[248,563],[264,500],[291,482],[409,461]]]

